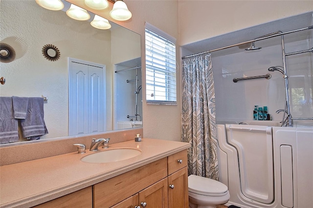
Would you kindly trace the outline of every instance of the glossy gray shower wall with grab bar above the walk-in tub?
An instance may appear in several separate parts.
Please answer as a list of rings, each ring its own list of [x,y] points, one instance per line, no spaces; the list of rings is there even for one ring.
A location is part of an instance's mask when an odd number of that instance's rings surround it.
[[[285,35],[284,39],[286,53],[312,48],[311,31]],[[275,112],[285,107],[284,78],[277,71],[268,71],[269,67],[283,66],[281,38],[257,41],[255,46],[262,49],[245,51],[237,48],[218,56],[212,53],[217,121],[252,120],[255,105],[268,106],[272,120],[282,119],[282,114]],[[313,53],[288,56],[286,62],[291,115],[313,117]],[[270,74],[271,78],[233,82],[235,77],[266,74]]]

